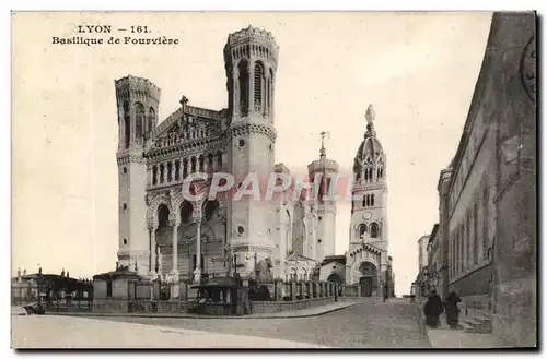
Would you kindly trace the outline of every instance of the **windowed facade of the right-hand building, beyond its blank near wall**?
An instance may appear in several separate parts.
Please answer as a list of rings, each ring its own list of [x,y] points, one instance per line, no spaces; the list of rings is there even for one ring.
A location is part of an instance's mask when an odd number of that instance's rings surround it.
[[[485,61],[488,61],[488,50]],[[485,96],[494,89],[492,85],[489,74],[482,70],[456,155],[449,166],[452,169],[447,193],[450,285],[468,308],[477,298],[487,303],[492,300],[497,124],[492,97]]]

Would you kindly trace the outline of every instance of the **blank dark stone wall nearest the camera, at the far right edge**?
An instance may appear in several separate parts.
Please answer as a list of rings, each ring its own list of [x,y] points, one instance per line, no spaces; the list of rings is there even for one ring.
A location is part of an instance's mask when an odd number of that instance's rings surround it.
[[[521,346],[537,345],[535,36],[534,13],[494,14],[486,70],[498,119],[492,330]]]

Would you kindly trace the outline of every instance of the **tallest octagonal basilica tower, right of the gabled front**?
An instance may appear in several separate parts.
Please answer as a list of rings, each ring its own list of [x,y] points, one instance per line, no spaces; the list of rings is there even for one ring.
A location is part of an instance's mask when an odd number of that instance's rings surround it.
[[[230,34],[224,47],[230,168],[237,191],[251,193],[260,184],[260,200],[247,194],[240,198],[237,193],[229,200],[229,243],[242,277],[252,277],[257,266],[270,264],[275,250],[272,202],[261,199],[275,161],[278,51],[270,33],[252,26]]]

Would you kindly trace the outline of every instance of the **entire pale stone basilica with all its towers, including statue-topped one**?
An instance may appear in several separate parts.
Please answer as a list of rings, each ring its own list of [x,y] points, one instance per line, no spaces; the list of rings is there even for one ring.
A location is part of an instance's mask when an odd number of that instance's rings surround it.
[[[338,164],[327,158],[323,143],[318,158],[307,166],[311,181],[321,181],[311,196],[288,191],[275,201],[236,201],[233,195],[190,201],[183,194],[193,173],[205,173],[198,183],[205,191],[217,172],[231,173],[236,189],[245,187],[242,181],[251,172],[291,176],[287,166],[275,163],[278,55],[266,31],[249,26],[230,34],[224,46],[228,108],[195,107],[183,96],[181,107],[161,122],[159,87],[132,75],[115,81],[119,265],[173,283],[234,273],[263,280],[336,274],[377,287],[376,279],[369,280],[371,273],[385,270],[388,258],[385,156],[372,107],[356,157],[353,192],[362,200],[353,203],[344,273],[325,266],[338,258],[336,201],[325,196]],[[363,262],[369,255],[377,260]],[[374,271],[362,263],[373,263]],[[369,279],[356,279],[360,273]]]

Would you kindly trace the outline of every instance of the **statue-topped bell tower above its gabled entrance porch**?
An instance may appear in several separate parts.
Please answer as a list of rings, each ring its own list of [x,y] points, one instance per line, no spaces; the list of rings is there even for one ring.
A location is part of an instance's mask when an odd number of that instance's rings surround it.
[[[349,250],[369,243],[383,251],[382,272],[387,264],[387,183],[386,157],[374,131],[374,108],[365,113],[366,132],[353,164],[353,200]]]

